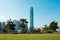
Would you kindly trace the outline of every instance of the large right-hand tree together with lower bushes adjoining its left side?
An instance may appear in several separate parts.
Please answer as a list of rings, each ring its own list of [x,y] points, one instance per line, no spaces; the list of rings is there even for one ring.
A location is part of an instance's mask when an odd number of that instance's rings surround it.
[[[52,32],[56,32],[56,29],[58,29],[58,22],[52,21],[49,26],[44,25],[43,31],[44,32],[48,32],[48,33],[52,33]]]

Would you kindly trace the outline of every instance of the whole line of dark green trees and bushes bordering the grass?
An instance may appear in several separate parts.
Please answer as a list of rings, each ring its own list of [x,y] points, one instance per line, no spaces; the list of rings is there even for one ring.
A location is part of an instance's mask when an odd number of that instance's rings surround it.
[[[19,30],[16,30],[15,29],[15,24],[14,22],[9,19],[7,20],[7,22],[5,23],[5,28],[2,30],[1,27],[0,27],[0,33],[15,33],[15,34],[18,34],[18,33],[53,33],[53,32],[57,32],[56,29],[59,29],[58,27],[58,22],[56,21],[52,21],[49,26],[47,25],[44,25],[44,27],[41,29],[41,28],[30,28],[28,29],[28,21],[26,19],[20,19],[19,20],[19,27],[20,29]]]

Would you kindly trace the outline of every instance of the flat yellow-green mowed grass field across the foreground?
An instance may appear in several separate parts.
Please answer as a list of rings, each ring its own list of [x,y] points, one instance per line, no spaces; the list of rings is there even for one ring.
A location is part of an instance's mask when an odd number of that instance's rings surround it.
[[[60,40],[60,34],[0,34],[0,40]]]

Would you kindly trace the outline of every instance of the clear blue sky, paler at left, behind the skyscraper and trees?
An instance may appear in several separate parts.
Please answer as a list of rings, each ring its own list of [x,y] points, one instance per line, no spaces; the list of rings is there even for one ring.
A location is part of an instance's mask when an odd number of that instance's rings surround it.
[[[0,21],[26,18],[34,7],[34,26],[42,27],[55,20],[60,26],[60,0],[0,0]]]

